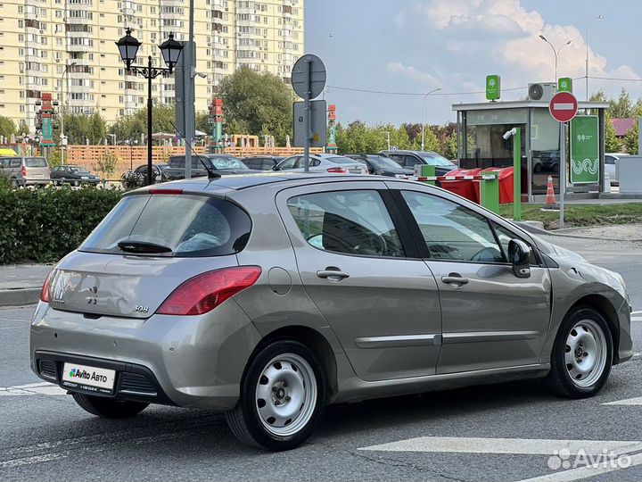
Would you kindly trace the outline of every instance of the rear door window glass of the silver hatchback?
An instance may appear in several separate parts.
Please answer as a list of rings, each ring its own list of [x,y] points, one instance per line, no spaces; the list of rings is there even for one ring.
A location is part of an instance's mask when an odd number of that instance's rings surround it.
[[[300,195],[288,208],[310,245],[334,253],[404,256],[391,217],[377,191]]]

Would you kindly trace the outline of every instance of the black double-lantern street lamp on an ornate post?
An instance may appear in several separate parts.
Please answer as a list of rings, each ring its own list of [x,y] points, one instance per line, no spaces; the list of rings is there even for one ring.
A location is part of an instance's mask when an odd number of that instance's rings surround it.
[[[127,35],[120,38],[116,45],[119,47],[120,58],[125,62],[128,73],[141,75],[147,79],[147,184],[152,184],[152,79],[162,75],[169,77],[174,71],[178,62],[178,57],[183,50],[183,44],[174,40],[174,34],[170,33],[169,38],[165,40],[159,48],[167,68],[154,67],[152,65],[152,55],[147,57],[147,67],[132,65],[136,60],[138,48],[141,42],[131,35],[131,29],[126,30]]]

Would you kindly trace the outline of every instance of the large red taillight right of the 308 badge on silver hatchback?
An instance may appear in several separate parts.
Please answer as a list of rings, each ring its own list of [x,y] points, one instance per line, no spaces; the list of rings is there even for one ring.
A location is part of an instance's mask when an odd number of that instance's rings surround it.
[[[251,287],[259,279],[259,266],[239,266],[203,273],[177,287],[161,304],[157,314],[199,315]]]

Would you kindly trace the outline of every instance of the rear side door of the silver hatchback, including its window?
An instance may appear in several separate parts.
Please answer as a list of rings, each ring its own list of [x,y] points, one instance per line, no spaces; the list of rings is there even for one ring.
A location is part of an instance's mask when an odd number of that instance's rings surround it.
[[[276,202],[301,281],[358,377],[433,374],[441,335],[436,282],[385,185],[297,187]]]

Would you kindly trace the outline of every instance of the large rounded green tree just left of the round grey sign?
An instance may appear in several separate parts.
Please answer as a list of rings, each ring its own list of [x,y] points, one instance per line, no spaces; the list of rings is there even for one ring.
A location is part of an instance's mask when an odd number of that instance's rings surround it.
[[[284,145],[292,136],[292,88],[280,77],[242,67],[220,84],[224,101],[226,133],[271,135]]]

